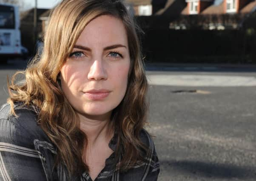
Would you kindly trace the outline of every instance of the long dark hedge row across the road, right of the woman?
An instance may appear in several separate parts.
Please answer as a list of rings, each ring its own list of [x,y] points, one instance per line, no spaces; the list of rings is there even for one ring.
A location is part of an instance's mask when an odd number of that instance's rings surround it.
[[[256,31],[145,29],[143,53],[151,62],[256,63]]]

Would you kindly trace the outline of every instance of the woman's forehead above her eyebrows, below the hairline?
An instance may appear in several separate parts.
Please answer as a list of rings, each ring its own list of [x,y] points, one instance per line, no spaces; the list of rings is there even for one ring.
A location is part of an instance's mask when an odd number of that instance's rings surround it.
[[[128,38],[121,19],[110,15],[102,15],[86,25],[77,40],[77,44],[88,47],[111,44],[128,46]]]

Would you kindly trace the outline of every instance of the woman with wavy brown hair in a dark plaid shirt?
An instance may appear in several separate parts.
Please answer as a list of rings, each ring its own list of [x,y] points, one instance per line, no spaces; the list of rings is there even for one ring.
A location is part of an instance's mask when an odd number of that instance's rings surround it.
[[[3,180],[154,181],[143,129],[147,80],[136,26],[119,0],[63,0],[43,53],[0,111]],[[10,114],[9,114],[10,113]]]

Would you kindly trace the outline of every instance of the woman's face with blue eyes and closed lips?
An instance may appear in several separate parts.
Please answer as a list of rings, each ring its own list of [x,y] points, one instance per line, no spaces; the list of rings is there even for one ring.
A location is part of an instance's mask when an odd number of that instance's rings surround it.
[[[122,21],[97,17],[82,31],[60,70],[65,97],[82,116],[109,116],[125,95],[129,67]]]

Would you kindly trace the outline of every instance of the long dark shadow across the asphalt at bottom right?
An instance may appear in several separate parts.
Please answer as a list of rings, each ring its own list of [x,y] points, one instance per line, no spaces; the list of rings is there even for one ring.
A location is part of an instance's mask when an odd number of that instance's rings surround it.
[[[184,174],[190,173],[208,178],[255,178],[256,180],[256,168],[251,167],[193,161],[162,161],[160,164],[162,167],[171,167],[172,169],[179,170]]]

